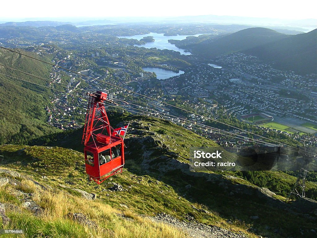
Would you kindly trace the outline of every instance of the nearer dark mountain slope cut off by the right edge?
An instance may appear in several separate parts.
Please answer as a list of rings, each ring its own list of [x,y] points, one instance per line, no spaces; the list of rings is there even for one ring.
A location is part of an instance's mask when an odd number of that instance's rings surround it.
[[[316,52],[317,29],[243,51],[264,61],[273,62],[277,69],[292,70],[301,74],[317,73]]]

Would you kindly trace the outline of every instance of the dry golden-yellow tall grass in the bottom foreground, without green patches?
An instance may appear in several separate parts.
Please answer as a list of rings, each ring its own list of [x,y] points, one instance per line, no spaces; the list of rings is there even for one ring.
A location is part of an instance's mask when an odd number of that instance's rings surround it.
[[[24,182],[23,184],[28,184]],[[30,187],[30,186],[29,186]],[[34,201],[45,209],[42,218],[46,221],[62,221],[69,212],[81,212],[98,224],[97,229],[87,226],[85,231],[89,236],[122,237],[122,238],[184,238],[184,232],[163,223],[156,223],[136,215],[131,210],[125,210],[125,216],[119,217],[118,209],[98,201],[87,201],[81,197],[69,195],[63,191],[43,191],[37,188]]]

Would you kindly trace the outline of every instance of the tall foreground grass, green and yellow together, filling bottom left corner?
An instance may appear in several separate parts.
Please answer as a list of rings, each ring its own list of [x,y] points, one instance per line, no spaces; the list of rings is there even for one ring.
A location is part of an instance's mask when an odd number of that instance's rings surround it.
[[[6,211],[6,215],[11,219],[10,224],[0,225],[0,228],[23,229],[25,234],[19,237],[185,237],[183,232],[139,217],[128,208],[116,209],[102,199],[87,201],[77,195],[71,195],[56,188],[58,186],[53,185],[56,184],[52,182],[54,180],[49,183],[55,188],[45,191],[29,180],[32,178],[31,175],[28,175],[27,179],[18,177],[15,178],[18,186],[7,184],[0,187],[0,202],[10,204],[11,207]],[[45,184],[47,181],[40,182]],[[35,216],[23,208],[21,195],[17,195],[21,192],[31,193],[32,200],[44,209],[44,213]],[[97,227],[72,221],[67,216],[69,212],[83,213],[95,222]],[[121,213],[130,219],[117,215]],[[16,235],[3,235],[3,237],[13,236],[16,237]]]

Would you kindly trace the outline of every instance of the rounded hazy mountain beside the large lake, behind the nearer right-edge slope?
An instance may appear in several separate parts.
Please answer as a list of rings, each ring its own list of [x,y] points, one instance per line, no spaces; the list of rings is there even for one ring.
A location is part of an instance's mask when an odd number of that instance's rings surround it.
[[[186,45],[192,53],[206,58],[213,58],[218,55],[230,54],[274,42],[288,35],[278,33],[268,28],[255,27],[240,30],[230,35],[208,39],[198,44]]]

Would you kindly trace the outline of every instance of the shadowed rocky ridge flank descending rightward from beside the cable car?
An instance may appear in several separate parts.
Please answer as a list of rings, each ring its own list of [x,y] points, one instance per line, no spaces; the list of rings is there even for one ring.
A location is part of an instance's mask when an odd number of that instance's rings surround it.
[[[192,171],[188,163],[180,162],[178,160],[178,154],[169,151],[168,148],[163,146],[164,143],[158,136],[131,137],[126,139],[125,143],[127,148],[138,148],[137,151],[128,153],[139,154],[142,169],[148,172],[159,171],[161,173],[159,176],[162,176],[167,172],[179,170],[185,176],[204,178],[206,183],[210,182],[212,184],[217,184],[224,190],[224,192],[227,192],[230,195],[250,196],[250,198],[261,199],[264,203],[270,206],[282,209],[294,209],[295,211],[299,211],[300,209],[298,208],[301,206],[306,206],[303,205],[304,202],[296,202],[294,205],[286,204],[285,202],[274,198],[276,194],[269,189],[243,184],[245,180],[235,176]],[[241,184],[239,184],[239,180],[241,180]],[[233,183],[232,181],[235,182]],[[186,186],[186,189],[190,188],[190,185]],[[307,202],[308,200],[305,200],[305,204]],[[311,210],[308,211],[309,206],[307,205],[306,207],[307,209],[301,211],[310,212]]]

